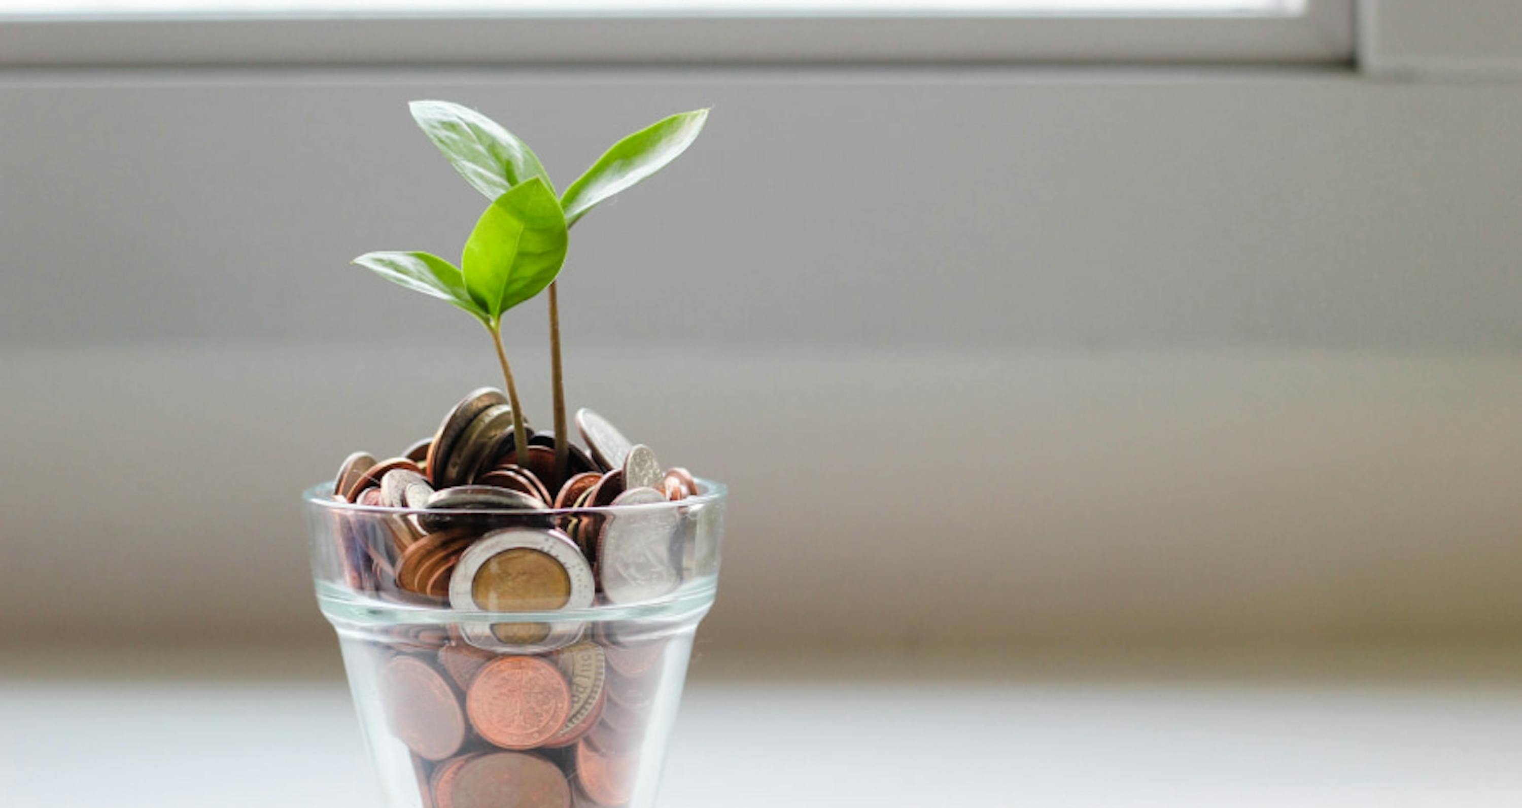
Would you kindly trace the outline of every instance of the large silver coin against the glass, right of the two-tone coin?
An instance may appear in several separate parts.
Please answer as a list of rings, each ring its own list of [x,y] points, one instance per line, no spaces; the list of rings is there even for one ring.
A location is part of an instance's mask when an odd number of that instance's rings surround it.
[[[667,502],[654,488],[629,488],[613,507]],[[671,593],[682,583],[673,546],[676,508],[636,508],[607,514],[597,542],[597,569],[603,593],[612,603],[639,603]]]

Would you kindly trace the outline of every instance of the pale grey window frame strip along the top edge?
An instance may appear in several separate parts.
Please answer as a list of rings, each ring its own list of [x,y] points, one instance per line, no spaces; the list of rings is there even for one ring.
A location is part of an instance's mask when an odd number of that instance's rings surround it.
[[[1355,0],[1282,15],[330,15],[0,21],[0,65],[1338,64]]]

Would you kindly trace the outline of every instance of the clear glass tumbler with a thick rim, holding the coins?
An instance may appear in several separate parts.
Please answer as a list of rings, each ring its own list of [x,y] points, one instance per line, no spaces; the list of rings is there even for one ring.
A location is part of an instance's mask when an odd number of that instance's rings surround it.
[[[306,491],[317,600],[338,631],[384,805],[654,803],[693,631],[718,581],[724,487],[699,487],[680,501],[534,511]],[[501,583],[543,565],[527,549],[481,563],[469,548],[548,534],[563,540],[546,552],[587,565],[571,565],[534,610],[455,607],[481,575]],[[587,568],[591,580],[574,580]]]

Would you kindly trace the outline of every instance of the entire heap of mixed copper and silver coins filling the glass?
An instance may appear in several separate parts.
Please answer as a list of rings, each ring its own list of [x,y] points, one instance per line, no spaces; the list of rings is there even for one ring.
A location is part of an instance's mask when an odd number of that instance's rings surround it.
[[[554,435],[530,429],[519,452],[511,405],[482,388],[400,455],[356,452],[338,472],[333,498],[359,505],[333,511],[345,583],[461,613],[374,645],[387,726],[426,808],[633,796],[667,639],[635,621],[545,618],[676,590],[705,551],[680,508],[650,505],[700,490],[597,412],[575,421],[586,449],[569,444],[557,467]],[[536,619],[502,622],[514,612]]]

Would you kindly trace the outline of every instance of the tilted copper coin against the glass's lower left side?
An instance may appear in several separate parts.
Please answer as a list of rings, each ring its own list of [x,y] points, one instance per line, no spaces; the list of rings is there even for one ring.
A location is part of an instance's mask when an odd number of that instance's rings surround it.
[[[391,732],[420,758],[441,761],[466,741],[466,721],[449,682],[432,665],[399,656],[380,671]]]

